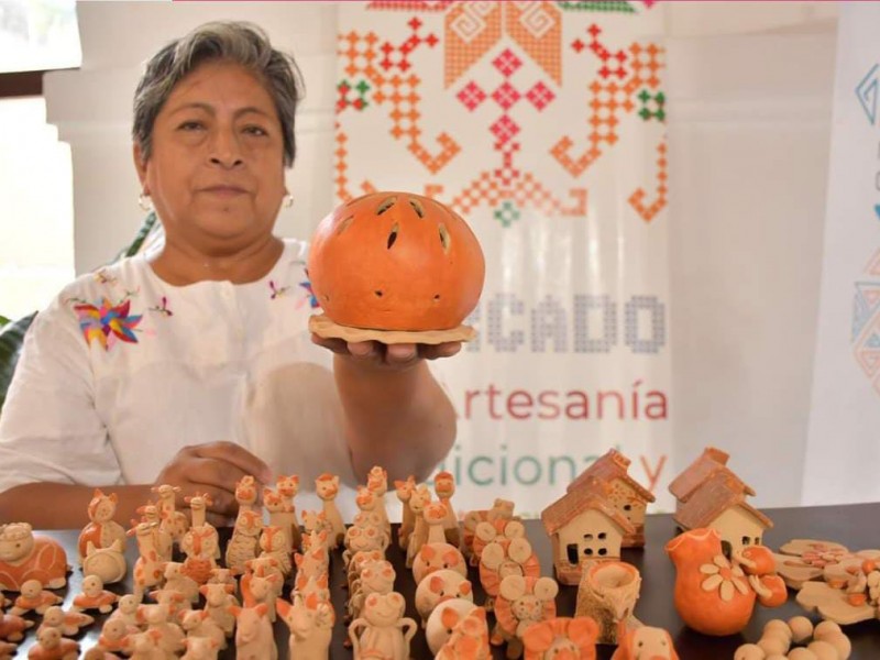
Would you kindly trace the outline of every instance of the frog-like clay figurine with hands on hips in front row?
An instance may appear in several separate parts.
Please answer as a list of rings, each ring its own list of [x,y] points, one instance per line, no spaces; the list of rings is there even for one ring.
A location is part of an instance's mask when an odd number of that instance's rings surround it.
[[[408,660],[409,644],[418,624],[404,617],[405,608],[406,601],[397,592],[366,597],[362,616],[349,626],[354,660]]]

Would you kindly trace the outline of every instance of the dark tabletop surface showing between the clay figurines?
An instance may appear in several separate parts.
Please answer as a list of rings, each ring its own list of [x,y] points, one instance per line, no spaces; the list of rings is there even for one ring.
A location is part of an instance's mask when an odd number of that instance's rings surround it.
[[[765,536],[765,542],[772,549],[779,548],[779,546],[792,538],[835,540],[846,544],[850,550],[880,548],[880,528],[877,525],[878,520],[880,520],[880,504],[767,509],[765,513],[776,524],[774,528]],[[540,521],[529,520],[526,527],[528,537],[540,557],[543,573],[552,574],[550,541],[543,534]],[[75,547],[78,532],[43,534],[48,534],[62,541],[72,562],[76,559]],[[789,602],[782,607],[767,609],[760,605],[756,606],[755,615],[748,628],[741,635],[713,638],[690,630],[684,627],[672,604],[672,586],[675,574],[672,562],[663,551],[663,546],[673,536],[675,536],[675,526],[669,515],[649,516],[646,525],[647,544],[645,550],[625,550],[624,560],[635,564],[641,572],[641,596],[636,605],[636,617],[646,625],[658,626],[669,630],[682,660],[733,658],[734,651],[740,644],[746,641],[754,642],[760,638],[765,623],[771,618],[789,618],[804,614],[802,608],[794,602],[793,593],[790,592]],[[128,556],[130,560],[129,572],[131,573],[131,565],[136,557],[133,543],[130,543]],[[404,568],[403,553],[397,550],[394,543],[388,549],[388,559],[397,570],[397,591],[406,597],[408,603],[407,616],[418,620],[413,602],[416,588],[413,574]],[[474,569],[472,569],[470,579],[475,586],[475,602],[480,604],[484,600],[484,594],[479,586],[480,580]],[[65,596],[65,608],[69,607],[74,595],[79,593],[81,581],[82,573],[76,569],[69,576],[68,587],[58,592]],[[345,639],[345,628],[341,623],[346,592],[340,585],[344,582],[341,556],[336,554],[331,565],[330,585],[333,607],[338,614],[338,623],[333,634],[331,658],[348,660],[352,657],[352,652],[342,646]],[[127,585],[130,585],[130,582]],[[110,588],[118,593],[131,591],[130,588],[123,588],[123,585],[112,585]],[[287,595],[286,592],[287,590],[285,590],[285,596]],[[576,594],[578,588],[574,586],[562,586],[560,588],[560,594],[557,598],[560,616],[571,616],[574,613]],[[96,618],[97,623],[78,637],[82,651],[91,648],[98,638],[100,623],[105,617]],[[811,615],[811,618],[817,620],[815,615]],[[492,616],[490,616],[490,622],[492,622]],[[847,627],[845,631],[853,641],[853,656],[850,658],[854,660],[880,658],[880,622],[864,622]],[[275,625],[275,639],[278,645],[279,658],[287,658],[287,627],[280,620]],[[29,631],[28,637],[19,647],[18,657],[26,657],[28,648],[33,641],[34,628]],[[610,658],[613,652],[614,647],[598,647],[598,658],[601,659]],[[234,649],[231,648],[221,657],[233,658]],[[414,639],[413,658],[417,660],[431,658],[421,631],[417,632]],[[503,648],[494,649],[494,658],[504,658]]]

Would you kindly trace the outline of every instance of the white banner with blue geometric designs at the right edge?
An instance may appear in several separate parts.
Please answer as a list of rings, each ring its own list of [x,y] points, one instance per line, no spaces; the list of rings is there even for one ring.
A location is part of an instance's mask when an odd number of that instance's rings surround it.
[[[840,8],[804,503],[880,498],[880,4]]]

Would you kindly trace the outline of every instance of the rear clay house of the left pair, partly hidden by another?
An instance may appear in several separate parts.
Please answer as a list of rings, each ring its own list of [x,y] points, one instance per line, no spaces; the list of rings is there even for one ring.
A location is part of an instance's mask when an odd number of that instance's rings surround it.
[[[609,486],[608,499],[636,530],[624,537],[624,548],[641,548],[645,546],[645,515],[648,505],[656,497],[629,476],[630,460],[616,449],[600,457],[578,479],[569,484],[568,491],[576,490],[587,479],[596,477]]]

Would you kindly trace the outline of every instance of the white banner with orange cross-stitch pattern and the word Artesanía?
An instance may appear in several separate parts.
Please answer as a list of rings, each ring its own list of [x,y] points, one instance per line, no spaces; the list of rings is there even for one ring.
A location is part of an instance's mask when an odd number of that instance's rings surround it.
[[[436,197],[486,256],[480,338],[437,364],[460,509],[537,515],[613,447],[671,504],[661,12],[340,6],[338,201]]]

